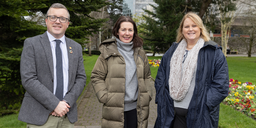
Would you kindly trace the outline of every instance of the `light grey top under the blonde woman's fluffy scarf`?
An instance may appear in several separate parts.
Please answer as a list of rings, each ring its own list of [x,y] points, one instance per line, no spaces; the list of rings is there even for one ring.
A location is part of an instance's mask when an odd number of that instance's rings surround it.
[[[188,59],[186,58],[187,55],[189,54],[190,51],[185,52],[185,56],[183,59]],[[187,55],[186,55],[187,53]],[[185,62],[184,61],[184,62]],[[182,67],[181,67],[181,76],[182,76],[182,71],[183,71],[183,67],[184,67],[184,63],[182,63]],[[196,64],[196,68],[197,68],[197,64]],[[193,92],[194,92],[194,89],[195,89],[195,84],[196,84],[196,68],[195,68],[195,71],[194,71],[194,74],[193,74],[193,78],[192,78],[192,81],[190,83],[190,87],[188,89],[188,93],[186,94],[185,98],[183,99],[183,101],[177,101],[177,100],[173,100],[174,102],[174,107],[178,107],[178,108],[185,108],[185,109],[188,109],[188,106],[189,106],[189,103],[190,103],[190,100],[193,96]],[[188,85],[189,86],[189,85]]]

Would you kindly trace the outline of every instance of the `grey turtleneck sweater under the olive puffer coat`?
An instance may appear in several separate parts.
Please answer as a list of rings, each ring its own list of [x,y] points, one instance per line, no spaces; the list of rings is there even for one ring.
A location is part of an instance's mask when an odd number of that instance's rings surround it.
[[[124,111],[135,109],[138,98],[138,79],[136,63],[133,57],[133,42],[124,43],[116,38],[117,50],[124,57],[125,61],[125,96]]]

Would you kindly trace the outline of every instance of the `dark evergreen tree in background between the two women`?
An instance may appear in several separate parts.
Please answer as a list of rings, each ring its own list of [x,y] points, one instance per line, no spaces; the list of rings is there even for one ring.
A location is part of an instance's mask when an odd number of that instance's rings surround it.
[[[143,15],[146,19],[145,28],[141,36],[145,45],[152,46],[154,53],[156,46],[160,51],[167,51],[173,42],[176,41],[176,30],[180,25],[180,20],[186,11],[185,0],[154,0],[158,6],[151,5],[155,12],[144,10],[148,16]]]

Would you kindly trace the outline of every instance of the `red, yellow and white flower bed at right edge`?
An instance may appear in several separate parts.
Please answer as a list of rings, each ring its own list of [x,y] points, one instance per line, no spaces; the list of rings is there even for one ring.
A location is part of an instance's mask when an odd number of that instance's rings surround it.
[[[256,118],[256,87],[251,82],[241,83],[238,80],[229,80],[229,92],[224,103],[236,110]]]

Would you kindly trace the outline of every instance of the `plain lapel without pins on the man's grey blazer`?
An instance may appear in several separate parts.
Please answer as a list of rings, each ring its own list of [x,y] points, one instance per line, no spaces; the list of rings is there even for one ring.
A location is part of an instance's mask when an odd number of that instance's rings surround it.
[[[52,47],[51,47],[51,43],[49,41],[47,32],[45,32],[43,35],[40,36],[40,42],[43,45],[44,48],[44,52],[46,54],[46,58],[48,60],[48,64],[50,67],[50,70],[52,72],[52,79],[54,78],[54,70],[53,70],[53,58],[52,58]]]

